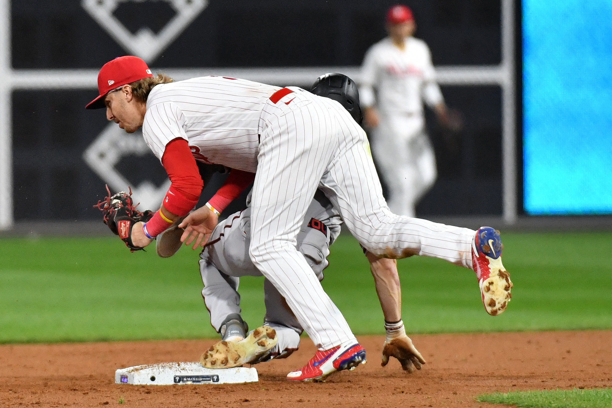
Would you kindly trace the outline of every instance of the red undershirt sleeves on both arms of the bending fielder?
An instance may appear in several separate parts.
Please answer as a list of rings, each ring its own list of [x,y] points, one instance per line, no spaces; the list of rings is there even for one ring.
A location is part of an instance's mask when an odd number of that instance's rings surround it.
[[[163,207],[169,212],[183,217],[195,207],[202,193],[203,182],[200,171],[185,139],[176,138],[166,144],[162,165],[170,178],[170,188],[163,199]],[[225,184],[209,200],[209,204],[222,212],[255,179],[255,174],[232,169]],[[147,222],[147,233],[155,237],[165,231],[170,224],[159,212]]]

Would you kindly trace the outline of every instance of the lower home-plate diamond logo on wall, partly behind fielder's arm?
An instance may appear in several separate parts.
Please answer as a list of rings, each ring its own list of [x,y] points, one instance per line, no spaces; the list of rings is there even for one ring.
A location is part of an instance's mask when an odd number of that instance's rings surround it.
[[[125,133],[114,122],[106,125],[94,143],[90,144],[83,153],[83,160],[111,189],[111,193],[128,191],[132,188],[135,203],[140,202],[138,209],[158,209],[163,197],[170,188],[170,180],[166,179],[160,187],[151,181],[145,180],[140,185],[133,185],[117,171],[115,166],[122,157],[128,155],[144,156],[151,154],[151,150],[144,143],[143,133],[138,130],[134,133]]]

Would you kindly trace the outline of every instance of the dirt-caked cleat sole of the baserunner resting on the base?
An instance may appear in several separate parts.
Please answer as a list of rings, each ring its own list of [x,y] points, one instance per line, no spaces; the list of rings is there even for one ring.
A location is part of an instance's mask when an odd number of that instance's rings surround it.
[[[276,346],[278,338],[272,327],[261,326],[241,341],[219,341],[200,357],[204,368],[233,368],[252,363]]]

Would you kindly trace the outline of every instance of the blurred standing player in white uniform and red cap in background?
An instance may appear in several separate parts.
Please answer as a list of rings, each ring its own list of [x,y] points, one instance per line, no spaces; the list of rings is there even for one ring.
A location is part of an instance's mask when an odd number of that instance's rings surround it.
[[[372,153],[389,189],[387,204],[408,217],[415,216],[417,201],[437,176],[422,100],[435,109],[442,125],[461,127],[458,115],[449,114],[444,104],[427,44],[412,37],[415,29],[408,7],[389,9],[389,37],[365,54],[359,89]]]

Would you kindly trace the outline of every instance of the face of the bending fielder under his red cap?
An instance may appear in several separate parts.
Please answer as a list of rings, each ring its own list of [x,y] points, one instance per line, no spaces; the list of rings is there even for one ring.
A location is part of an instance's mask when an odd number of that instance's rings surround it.
[[[132,96],[132,88],[124,86],[106,95],[106,119],[114,121],[127,133],[133,133],[143,125],[144,113]]]

